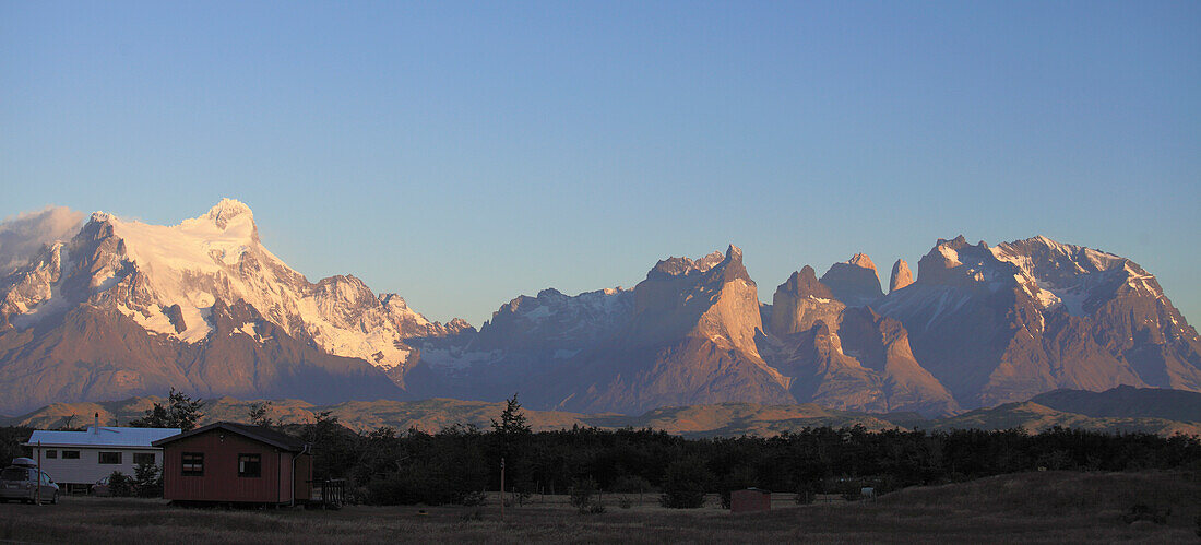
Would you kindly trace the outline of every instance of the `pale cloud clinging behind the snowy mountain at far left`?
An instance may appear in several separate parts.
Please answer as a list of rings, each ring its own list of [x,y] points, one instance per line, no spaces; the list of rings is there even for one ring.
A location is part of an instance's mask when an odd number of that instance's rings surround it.
[[[25,264],[43,245],[74,236],[84,214],[66,206],[46,206],[0,222],[0,275]]]

